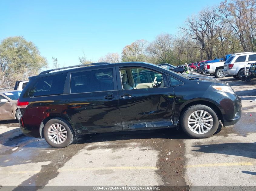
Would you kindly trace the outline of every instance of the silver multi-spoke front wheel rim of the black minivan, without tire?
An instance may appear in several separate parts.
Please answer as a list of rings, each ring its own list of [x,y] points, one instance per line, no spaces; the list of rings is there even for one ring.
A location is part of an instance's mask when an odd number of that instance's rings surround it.
[[[204,110],[197,110],[188,117],[188,128],[196,134],[204,134],[211,130],[213,118]]]

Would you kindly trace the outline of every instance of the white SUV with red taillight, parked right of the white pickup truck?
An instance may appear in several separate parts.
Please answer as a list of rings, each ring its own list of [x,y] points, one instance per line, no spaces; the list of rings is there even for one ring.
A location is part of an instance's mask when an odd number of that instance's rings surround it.
[[[242,72],[244,72],[244,65],[256,62],[256,53],[236,53],[232,54],[224,63],[224,71],[228,75],[233,75],[234,78],[240,78]]]

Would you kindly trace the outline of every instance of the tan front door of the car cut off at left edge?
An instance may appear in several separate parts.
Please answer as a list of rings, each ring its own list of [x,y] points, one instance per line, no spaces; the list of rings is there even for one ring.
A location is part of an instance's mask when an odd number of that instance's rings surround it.
[[[12,103],[3,96],[0,96],[0,117],[1,120],[13,118]]]

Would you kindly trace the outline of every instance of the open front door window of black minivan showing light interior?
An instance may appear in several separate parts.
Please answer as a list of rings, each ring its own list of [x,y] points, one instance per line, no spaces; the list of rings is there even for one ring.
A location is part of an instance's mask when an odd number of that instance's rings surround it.
[[[165,75],[145,68],[122,68],[123,89],[164,88],[168,86]],[[167,84],[166,84],[167,83]]]

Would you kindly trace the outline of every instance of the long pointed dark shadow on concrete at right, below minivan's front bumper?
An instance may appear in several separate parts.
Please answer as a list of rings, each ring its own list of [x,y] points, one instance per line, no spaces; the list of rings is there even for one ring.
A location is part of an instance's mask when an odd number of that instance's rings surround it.
[[[227,154],[248,158],[256,158],[256,142],[254,143],[223,143],[214,145],[192,145],[199,148],[192,150],[203,153]]]

